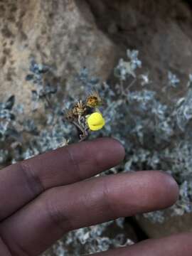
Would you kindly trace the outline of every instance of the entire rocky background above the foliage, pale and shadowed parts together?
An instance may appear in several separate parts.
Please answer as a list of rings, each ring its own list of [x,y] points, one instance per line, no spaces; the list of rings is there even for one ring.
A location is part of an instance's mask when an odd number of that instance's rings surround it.
[[[66,88],[84,66],[106,79],[127,48],[140,51],[157,88],[167,70],[191,72],[192,16],[181,0],[3,0],[0,21],[0,101],[14,93],[27,114],[30,58],[53,66]]]

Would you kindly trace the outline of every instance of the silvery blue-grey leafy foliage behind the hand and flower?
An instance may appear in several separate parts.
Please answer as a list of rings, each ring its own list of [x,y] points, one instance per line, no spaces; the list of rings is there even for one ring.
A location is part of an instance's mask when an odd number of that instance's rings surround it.
[[[180,186],[176,205],[169,210],[144,214],[154,222],[164,222],[165,213],[170,216],[192,212],[192,75],[189,75],[186,86],[181,87],[181,81],[169,71],[166,86],[156,90],[149,73],[141,72],[142,61],[138,54],[137,50],[127,50],[127,59],[119,60],[114,69],[115,82],[110,85],[90,78],[86,68],[74,78],[74,82],[78,82],[79,95],[84,98],[90,97],[94,91],[100,99],[105,99],[100,106],[105,127],[89,132],[90,138],[117,138],[127,151],[124,163],[105,174],[161,169],[176,178]],[[77,131],[65,117],[82,98],[76,99],[70,91],[68,95],[62,94],[60,85],[51,85],[45,79],[50,72],[50,67],[32,60],[30,73],[26,76],[26,80],[36,87],[31,92],[32,111],[35,113],[42,104],[44,106],[43,123],[37,123],[35,119],[17,121],[16,116],[23,110],[21,106],[14,106],[14,96],[0,103],[0,164],[14,163],[56,149],[68,144],[68,139],[78,141]],[[176,96],[181,90],[182,97]],[[59,94],[63,99],[58,100],[61,98]],[[27,137],[29,139],[26,139],[26,133],[31,135]],[[97,232],[100,233],[102,227],[97,225]],[[80,233],[83,233],[80,240],[82,237],[90,239],[92,228],[73,231],[66,239],[72,239],[72,234],[76,239]],[[92,243],[90,245],[98,249]]]

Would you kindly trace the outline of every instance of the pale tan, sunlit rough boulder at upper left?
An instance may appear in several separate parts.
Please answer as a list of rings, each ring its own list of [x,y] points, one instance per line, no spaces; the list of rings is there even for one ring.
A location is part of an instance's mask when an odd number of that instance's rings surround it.
[[[0,101],[15,94],[30,106],[25,78],[31,58],[52,66],[61,85],[84,66],[105,79],[114,65],[114,45],[84,1],[4,0],[0,21]]]

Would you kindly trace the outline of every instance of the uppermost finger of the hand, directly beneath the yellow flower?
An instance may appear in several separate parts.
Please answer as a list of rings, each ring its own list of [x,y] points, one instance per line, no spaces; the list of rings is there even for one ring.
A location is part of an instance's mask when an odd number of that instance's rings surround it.
[[[2,169],[0,220],[46,189],[94,176],[119,164],[123,158],[122,145],[106,138],[65,146]]]

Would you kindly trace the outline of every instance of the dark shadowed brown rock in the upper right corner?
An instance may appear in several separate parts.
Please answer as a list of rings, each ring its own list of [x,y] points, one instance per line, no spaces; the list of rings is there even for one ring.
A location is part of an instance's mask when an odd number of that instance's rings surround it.
[[[146,70],[161,86],[167,71],[191,73],[191,7],[185,1],[87,0],[97,26],[117,44],[139,50]]]

